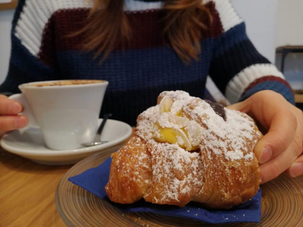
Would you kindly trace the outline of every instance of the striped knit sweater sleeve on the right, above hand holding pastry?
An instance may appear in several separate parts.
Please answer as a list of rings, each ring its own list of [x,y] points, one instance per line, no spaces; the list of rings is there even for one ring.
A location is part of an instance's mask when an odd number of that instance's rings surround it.
[[[294,104],[283,74],[263,57],[246,35],[245,24],[228,0],[215,0],[221,34],[215,37],[209,75],[231,102],[245,100],[261,90],[273,90]]]

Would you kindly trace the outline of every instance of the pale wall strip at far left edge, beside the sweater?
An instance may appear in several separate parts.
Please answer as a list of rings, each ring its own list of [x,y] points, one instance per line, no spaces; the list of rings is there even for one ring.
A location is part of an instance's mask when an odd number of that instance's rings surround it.
[[[11,24],[14,10],[0,11],[0,84],[8,71],[8,61],[11,52]]]

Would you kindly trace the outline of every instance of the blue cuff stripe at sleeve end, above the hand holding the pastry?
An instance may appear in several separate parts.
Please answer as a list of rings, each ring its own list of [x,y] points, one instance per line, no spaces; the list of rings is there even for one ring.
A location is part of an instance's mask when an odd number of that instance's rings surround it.
[[[256,84],[254,87],[249,89],[242,95],[240,101],[243,101],[250,97],[251,95],[255,94],[261,90],[273,90],[278,92],[279,94],[283,95],[283,97],[290,102],[291,104],[295,104],[295,98],[292,94],[292,91],[287,87],[285,84],[278,82],[278,81],[265,81],[260,84]]]

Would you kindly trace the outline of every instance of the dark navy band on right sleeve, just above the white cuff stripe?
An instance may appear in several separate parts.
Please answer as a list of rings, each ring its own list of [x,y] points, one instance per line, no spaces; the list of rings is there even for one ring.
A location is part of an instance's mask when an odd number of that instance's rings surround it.
[[[241,70],[253,64],[270,63],[250,40],[243,40],[211,61],[209,74],[224,94],[226,84]]]

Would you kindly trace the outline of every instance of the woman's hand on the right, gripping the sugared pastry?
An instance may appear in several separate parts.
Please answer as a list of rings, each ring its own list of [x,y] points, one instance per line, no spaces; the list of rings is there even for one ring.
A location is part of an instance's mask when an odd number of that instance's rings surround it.
[[[262,183],[285,170],[292,177],[303,175],[303,114],[300,109],[271,90],[259,91],[227,108],[247,113],[268,130],[255,147]]]

